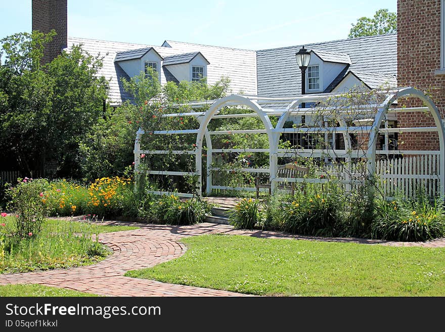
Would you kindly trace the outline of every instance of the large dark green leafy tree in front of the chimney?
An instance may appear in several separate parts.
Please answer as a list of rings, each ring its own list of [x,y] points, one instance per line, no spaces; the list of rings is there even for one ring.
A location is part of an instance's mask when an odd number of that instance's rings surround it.
[[[22,175],[38,176],[57,161],[60,176],[76,176],[78,144],[103,115],[107,82],[101,59],[81,45],[42,64],[55,32],[17,33],[0,40],[0,149]]]

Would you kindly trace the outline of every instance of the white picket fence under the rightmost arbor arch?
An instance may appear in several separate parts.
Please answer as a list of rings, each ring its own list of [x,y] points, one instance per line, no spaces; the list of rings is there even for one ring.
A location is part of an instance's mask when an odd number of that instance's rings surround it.
[[[439,193],[438,154],[380,160],[376,163],[376,173],[386,197],[395,193],[415,197],[421,188],[430,197]]]

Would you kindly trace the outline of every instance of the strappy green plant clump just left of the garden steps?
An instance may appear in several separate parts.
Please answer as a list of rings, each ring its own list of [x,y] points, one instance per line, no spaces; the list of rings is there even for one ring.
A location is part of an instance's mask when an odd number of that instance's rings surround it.
[[[203,222],[210,205],[196,198],[180,200],[174,195],[161,196],[151,203],[149,221],[171,225],[192,225]]]

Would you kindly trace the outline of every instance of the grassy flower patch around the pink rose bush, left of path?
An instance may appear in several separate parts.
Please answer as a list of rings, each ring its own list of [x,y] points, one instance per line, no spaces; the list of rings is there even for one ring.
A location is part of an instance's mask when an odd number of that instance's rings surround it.
[[[0,273],[29,272],[90,265],[103,260],[111,251],[93,240],[101,232],[138,227],[97,225],[87,222],[47,219],[38,236],[27,239],[8,235],[14,232],[14,218],[2,218],[0,229]],[[4,233],[5,234],[5,233]]]

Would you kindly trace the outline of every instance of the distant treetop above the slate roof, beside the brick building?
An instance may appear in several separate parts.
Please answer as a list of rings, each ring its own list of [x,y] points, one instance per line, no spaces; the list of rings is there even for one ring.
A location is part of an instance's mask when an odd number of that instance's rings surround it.
[[[397,31],[397,14],[387,9],[380,9],[374,17],[361,17],[352,24],[348,38],[375,36]]]

